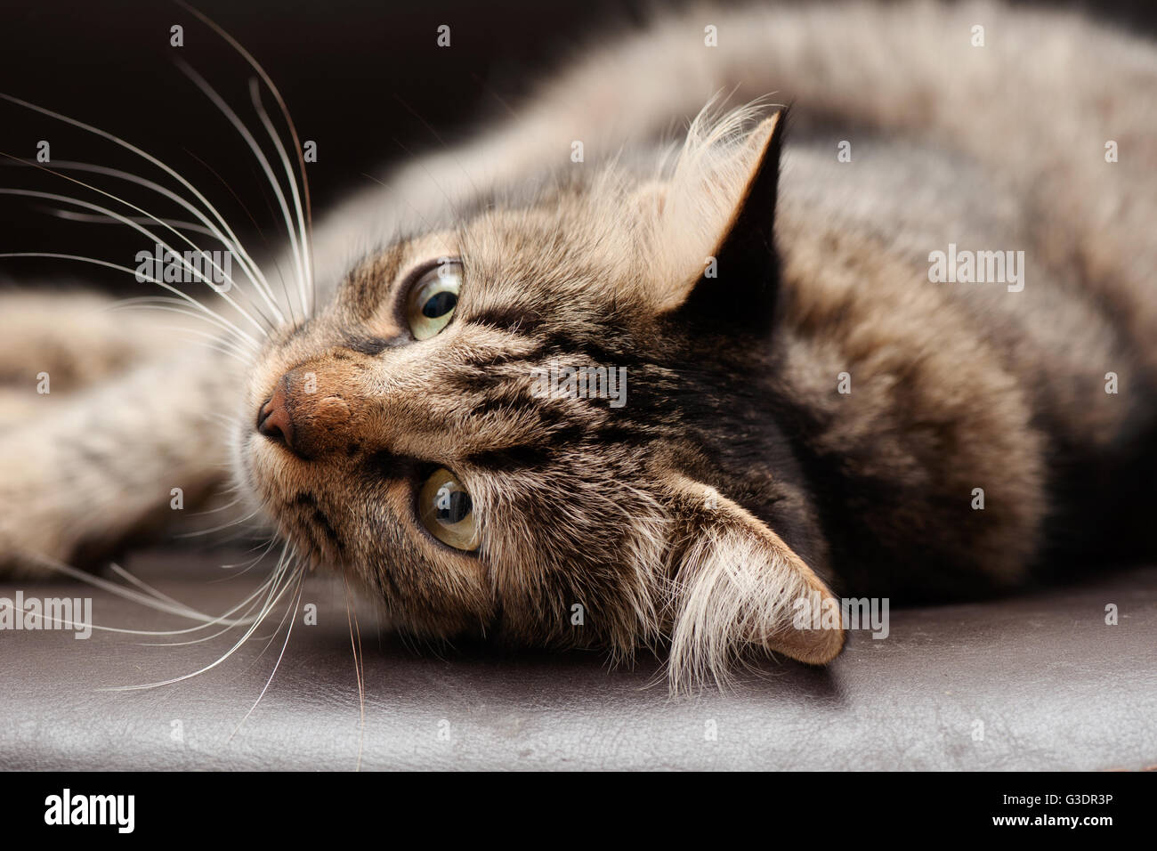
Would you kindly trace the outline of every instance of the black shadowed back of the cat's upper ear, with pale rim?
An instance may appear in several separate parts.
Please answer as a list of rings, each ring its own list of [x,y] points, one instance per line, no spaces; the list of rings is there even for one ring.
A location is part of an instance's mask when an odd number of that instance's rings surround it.
[[[766,332],[779,293],[773,222],[786,110],[766,118],[747,138],[745,179],[703,271],[676,311],[691,324]]]

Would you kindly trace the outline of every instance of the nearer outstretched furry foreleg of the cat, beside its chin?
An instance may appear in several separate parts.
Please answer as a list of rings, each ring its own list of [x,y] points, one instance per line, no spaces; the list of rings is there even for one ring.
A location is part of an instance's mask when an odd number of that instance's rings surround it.
[[[0,430],[0,570],[104,558],[220,485],[239,366],[178,350]]]

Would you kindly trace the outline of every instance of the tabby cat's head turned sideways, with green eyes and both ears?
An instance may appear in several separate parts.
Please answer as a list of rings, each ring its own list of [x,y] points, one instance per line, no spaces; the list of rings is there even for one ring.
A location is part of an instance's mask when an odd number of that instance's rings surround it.
[[[782,132],[700,120],[657,175],[576,168],[355,264],[250,376],[239,467],[280,531],[419,636],[669,646],[676,687],[831,660],[840,630],[793,623],[831,594],[767,416]]]

